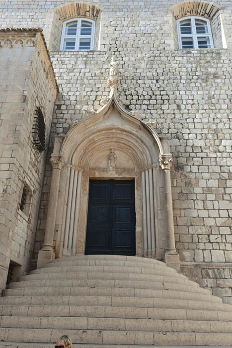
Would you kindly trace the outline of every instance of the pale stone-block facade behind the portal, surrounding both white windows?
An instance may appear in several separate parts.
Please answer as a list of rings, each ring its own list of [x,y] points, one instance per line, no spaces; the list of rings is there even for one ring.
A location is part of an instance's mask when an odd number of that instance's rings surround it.
[[[0,11],[2,28],[43,28],[60,88],[33,261],[44,243],[54,136],[66,136],[71,122],[102,108],[114,55],[125,110],[170,138],[181,270],[232,303],[232,1],[6,1]],[[95,16],[94,51],[59,51],[63,21],[75,11]],[[178,49],[176,19],[189,15],[210,19],[215,48]],[[55,228],[56,250],[58,236]]]

